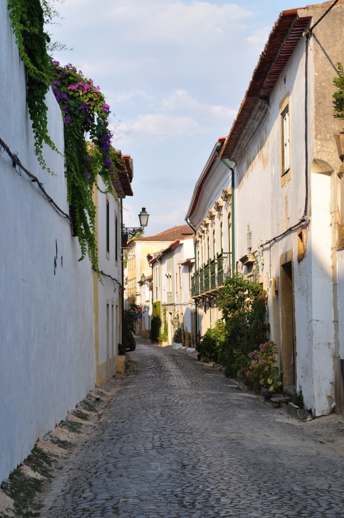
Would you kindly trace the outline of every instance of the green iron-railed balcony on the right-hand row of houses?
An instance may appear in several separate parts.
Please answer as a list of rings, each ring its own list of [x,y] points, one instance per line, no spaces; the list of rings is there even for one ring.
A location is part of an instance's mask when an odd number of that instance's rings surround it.
[[[199,268],[191,277],[191,296],[202,298],[215,295],[218,288],[223,286],[226,277],[231,274],[230,259],[231,254],[223,252],[203,268]]]

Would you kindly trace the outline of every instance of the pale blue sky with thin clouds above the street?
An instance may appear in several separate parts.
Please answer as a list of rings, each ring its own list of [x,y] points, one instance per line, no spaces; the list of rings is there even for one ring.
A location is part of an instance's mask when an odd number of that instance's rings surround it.
[[[269,32],[297,0],[65,0],[55,52],[99,85],[113,145],[134,161],[124,223],[150,214],[146,235],[184,223],[216,140],[231,129]]]

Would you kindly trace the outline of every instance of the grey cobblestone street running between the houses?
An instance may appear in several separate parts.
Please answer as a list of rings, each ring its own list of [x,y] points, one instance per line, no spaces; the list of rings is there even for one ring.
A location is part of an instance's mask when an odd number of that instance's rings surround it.
[[[344,456],[185,354],[137,340],[130,355],[41,517],[344,517]]]

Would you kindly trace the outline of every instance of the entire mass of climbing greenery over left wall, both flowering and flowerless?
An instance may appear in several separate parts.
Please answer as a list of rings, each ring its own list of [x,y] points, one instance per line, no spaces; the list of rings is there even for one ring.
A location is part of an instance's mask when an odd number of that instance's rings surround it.
[[[122,157],[111,146],[110,107],[99,87],[84,77],[81,70],[71,64],[61,67],[59,62],[50,59],[47,52],[50,38],[44,31],[44,23],[51,21],[56,11],[49,0],[31,0],[30,3],[8,0],[7,5],[27,71],[26,99],[38,162],[48,169],[42,155],[44,142],[58,151],[47,130],[45,96],[51,86],[64,121],[65,176],[73,235],[80,242],[80,261],[88,254],[98,271],[93,203],[93,190],[98,188],[97,175],[104,181],[105,192],[114,194],[111,170],[125,171]]]

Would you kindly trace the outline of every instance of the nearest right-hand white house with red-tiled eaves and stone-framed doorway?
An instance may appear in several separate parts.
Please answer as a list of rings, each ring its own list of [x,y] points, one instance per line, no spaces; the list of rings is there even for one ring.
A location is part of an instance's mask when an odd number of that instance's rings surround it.
[[[332,98],[344,0],[332,5],[281,13],[218,147],[234,175],[233,264],[247,276],[259,264],[283,385],[301,387],[314,415],[344,413],[343,121]],[[206,199],[201,190],[187,215],[197,233]]]

